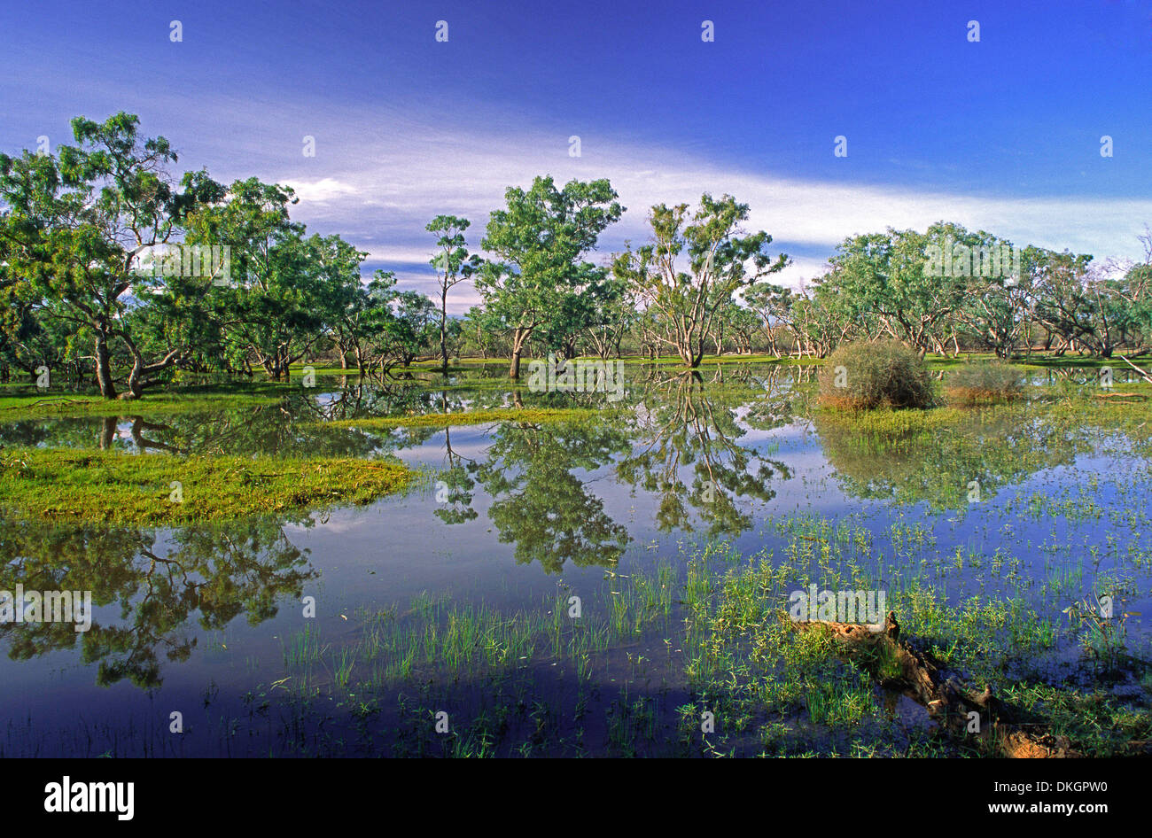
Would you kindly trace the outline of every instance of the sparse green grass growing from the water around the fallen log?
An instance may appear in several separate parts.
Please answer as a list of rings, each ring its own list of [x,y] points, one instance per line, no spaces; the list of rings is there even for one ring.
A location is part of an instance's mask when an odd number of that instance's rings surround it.
[[[894,717],[870,666],[843,660],[824,632],[793,628],[790,591],[813,580],[840,589],[880,585],[857,564],[874,558],[865,532],[812,523],[786,526],[797,527],[796,553],[744,556],[711,544],[688,553],[680,571],[661,562],[646,572],[606,574],[598,591],[583,592],[579,619],[568,614],[567,593],[515,611],[427,594],[406,614],[367,609],[357,615],[362,633],[350,646],[326,649],[297,638],[286,648],[286,675],[302,677],[311,649],[312,662],[324,664],[304,683],[320,691],[318,711],[331,701],[348,708],[399,701],[406,721],[396,754],[993,755],[980,740],[949,739]],[[809,541],[808,532],[821,538]],[[810,551],[821,542],[828,551],[813,577]],[[1075,626],[1011,594],[952,604],[923,569],[912,572],[884,585],[887,604],[903,637],[949,675],[991,685],[1031,723],[1069,736],[1087,755],[1124,753],[1127,740],[1150,736],[1147,695],[1084,690],[1046,673],[1045,662],[1075,645]],[[1152,683],[1146,662],[1132,665]],[[541,672],[574,676],[575,684],[558,692]],[[669,688],[688,703],[664,706],[657,696]],[[444,708],[453,733],[441,738],[429,731]],[[715,730],[702,736],[704,710]]]

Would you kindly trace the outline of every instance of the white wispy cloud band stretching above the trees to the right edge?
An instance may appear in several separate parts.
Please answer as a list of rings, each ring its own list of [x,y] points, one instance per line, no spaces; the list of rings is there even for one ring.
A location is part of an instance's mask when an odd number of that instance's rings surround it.
[[[579,158],[568,155],[568,136],[515,130],[507,134],[445,130],[410,122],[384,137],[344,129],[336,155],[281,167],[278,177],[297,189],[294,215],[310,226],[343,233],[370,252],[370,264],[397,271],[409,285],[432,283],[426,267],[432,235],[424,230],[439,213],[472,221],[469,242],[478,249],[488,212],[509,185],[526,186],[535,175],[563,183],[607,177],[628,207],[601,239],[620,250],[646,238],[647,209],[657,203],[694,204],[704,191],[732,193],[750,205],[749,229],[766,229],[773,247],[793,256],[780,280],[797,284],[821,273],[846,236],[896,228],[924,229],[939,220],[986,229],[1017,244],[1037,244],[1106,256],[1139,254],[1136,235],[1152,220],[1152,200],[1013,197],[949,193],[907,188],[812,182],[778,173],[753,173],[667,148],[629,145],[611,137],[583,137]],[[319,173],[323,172],[323,175]],[[461,289],[457,311],[477,302]]]

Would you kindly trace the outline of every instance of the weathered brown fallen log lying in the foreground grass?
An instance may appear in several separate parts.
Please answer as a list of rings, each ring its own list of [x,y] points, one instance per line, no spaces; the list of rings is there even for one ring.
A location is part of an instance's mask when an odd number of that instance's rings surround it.
[[[791,622],[791,625],[797,631],[831,633],[844,657],[862,663],[882,686],[899,690],[922,704],[948,736],[979,736],[1009,757],[1079,756],[1067,737],[1026,731],[1015,723],[1010,708],[990,687],[976,692],[953,679],[945,680],[932,661],[900,639],[900,624],[893,611],[888,611],[884,628],[877,631],[859,623],[828,620]],[[978,734],[968,732],[971,713],[980,716]]]

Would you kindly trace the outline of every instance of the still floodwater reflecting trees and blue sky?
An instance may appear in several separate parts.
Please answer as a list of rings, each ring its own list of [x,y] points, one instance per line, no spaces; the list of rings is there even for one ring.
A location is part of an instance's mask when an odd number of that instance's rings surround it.
[[[1089,383],[1094,372],[1077,375]],[[422,473],[406,495],[364,508],[174,530],[0,517],[0,589],[91,591],[96,603],[83,633],[0,625],[0,753],[338,751],[325,730],[341,741],[356,730],[348,695],[362,672],[341,669],[373,615],[418,630],[422,615],[440,614],[427,603],[514,614],[576,594],[594,609],[617,578],[661,564],[680,573],[694,546],[779,555],[796,533],[821,526],[846,543],[866,538],[857,561],[872,562],[886,584],[940,571],[934,584],[948,602],[1023,595],[1058,617],[1108,591],[1123,595],[1126,610],[1152,612],[1150,460],[1138,439],[1053,425],[1022,404],[1003,416],[973,410],[931,445],[877,448],[820,417],[811,367],[725,364],[685,378],[629,365],[624,376],[621,402],[511,390],[502,370],[477,367],[439,389],[324,378],[282,404],[219,414],[0,424],[6,447],[380,456]],[[1058,378],[1033,376],[1030,394],[1067,383]],[[324,425],[513,405],[593,407],[602,418]],[[668,634],[662,626],[622,648],[631,660]],[[294,691],[302,637],[320,647],[306,688]],[[1147,640],[1146,620],[1132,619],[1127,642]],[[617,657],[605,655],[590,676],[608,703],[627,681]],[[485,690],[479,676],[438,678],[439,664],[423,671],[441,696]],[[550,690],[577,677],[539,650],[524,665],[555,681]],[[688,698],[661,677],[668,707]],[[387,731],[406,724],[403,701],[399,710],[389,703],[404,687],[385,693],[378,730],[349,753],[388,753]],[[285,709],[302,701],[308,715]]]

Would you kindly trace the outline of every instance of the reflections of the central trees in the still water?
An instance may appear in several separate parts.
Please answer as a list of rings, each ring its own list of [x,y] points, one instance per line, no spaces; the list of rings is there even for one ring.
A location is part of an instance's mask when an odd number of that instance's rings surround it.
[[[447,524],[473,519],[472,493],[479,483],[493,498],[488,516],[500,540],[516,546],[517,562],[538,561],[552,573],[569,561],[609,565],[630,539],[590,490],[586,473],[613,465],[620,482],[659,497],[661,531],[691,531],[692,510],[707,521],[710,535],[751,527],[744,502],[771,500],[773,483],[791,472],[740,444],[743,422],[768,429],[789,421],[791,379],[781,379],[779,370],[761,376],[729,373],[728,382],[718,373],[710,383],[698,373],[668,375],[657,366],[642,374],[632,410],[604,419],[494,425],[482,462],[465,463],[452,449],[447,428],[447,467],[438,475],[434,513]],[[588,406],[594,398],[571,395],[567,406]]]

